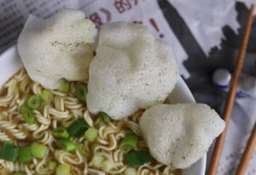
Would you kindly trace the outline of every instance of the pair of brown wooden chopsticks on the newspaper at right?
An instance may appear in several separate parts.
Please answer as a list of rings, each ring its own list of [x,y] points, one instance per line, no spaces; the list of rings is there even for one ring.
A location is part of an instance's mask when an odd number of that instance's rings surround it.
[[[251,28],[252,28],[252,24],[253,24],[253,11],[254,11],[254,5],[252,5],[252,7],[250,8],[250,12],[247,18],[247,25],[246,25],[246,29],[243,35],[243,39],[242,39],[242,43],[241,43],[241,48],[236,60],[236,69],[233,73],[231,82],[230,82],[230,91],[229,91],[229,95],[228,95],[228,99],[226,101],[225,104],[225,108],[224,108],[224,121],[226,123],[226,127],[224,129],[224,132],[221,133],[219,135],[219,137],[217,138],[213,153],[212,153],[212,160],[210,163],[210,167],[208,170],[208,174],[209,175],[216,175],[217,170],[218,170],[218,161],[221,155],[221,152],[223,150],[223,146],[224,146],[224,138],[227,132],[227,128],[229,127],[229,123],[230,123],[230,115],[233,109],[233,105],[235,103],[235,99],[236,99],[236,88],[238,85],[238,79],[241,73],[241,68],[243,65],[243,61],[245,59],[245,55],[247,52],[247,43],[248,43],[248,39],[249,39],[249,34],[251,32]],[[249,141],[247,142],[247,148],[244,151],[242,158],[241,158],[241,162],[239,164],[239,167],[237,168],[236,171],[236,175],[244,175],[247,169],[247,164],[251,158],[251,155],[253,154],[253,149],[255,147],[256,144],[256,123],[254,124],[253,127],[253,132],[249,138]]]

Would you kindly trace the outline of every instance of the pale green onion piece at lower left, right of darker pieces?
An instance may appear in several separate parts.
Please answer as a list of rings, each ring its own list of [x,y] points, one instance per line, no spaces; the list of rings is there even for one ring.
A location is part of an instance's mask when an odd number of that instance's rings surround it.
[[[49,149],[44,144],[34,142],[31,144],[31,151],[34,157],[43,159],[48,154]]]

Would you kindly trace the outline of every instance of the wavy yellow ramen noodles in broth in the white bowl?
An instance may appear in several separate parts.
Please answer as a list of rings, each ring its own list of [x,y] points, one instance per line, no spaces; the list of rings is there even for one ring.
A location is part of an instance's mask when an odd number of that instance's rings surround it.
[[[148,150],[143,140],[138,120],[143,111],[138,111],[133,116],[120,121],[110,120],[104,122],[99,116],[92,116],[73,94],[79,82],[70,82],[68,93],[49,90],[54,95],[49,104],[42,104],[37,110],[33,110],[36,122],[29,125],[20,114],[20,106],[26,103],[26,99],[33,95],[40,95],[44,88],[27,76],[25,69],[21,69],[8,82],[3,84],[0,97],[0,143],[9,141],[17,146],[31,145],[33,142],[44,144],[49,152],[44,158],[32,158],[29,163],[18,161],[0,160],[0,174],[10,172],[26,172],[32,174],[55,174],[55,170],[47,166],[49,161],[55,161],[57,165],[67,164],[71,174],[90,174],[90,170],[102,171],[94,165],[96,157],[112,162],[112,167],[106,174],[125,174],[129,167],[125,162],[125,150],[119,148],[120,141],[125,138],[125,133],[133,132],[139,137],[137,149]],[[65,151],[56,146],[57,139],[52,135],[56,127],[68,127],[73,121],[83,118],[90,127],[97,130],[97,137],[89,142],[84,137],[70,138],[76,144],[84,147],[87,155],[79,150]],[[178,175],[180,170],[163,165],[157,161],[151,161],[139,167],[133,167],[138,175]],[[104,171],[102,171],[104,172]]]

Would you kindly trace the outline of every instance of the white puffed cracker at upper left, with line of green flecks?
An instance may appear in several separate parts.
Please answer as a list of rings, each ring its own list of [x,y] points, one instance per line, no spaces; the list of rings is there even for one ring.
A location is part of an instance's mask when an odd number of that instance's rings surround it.
[[[54,89],[63,79],[88,79],[95,37],[94,23],[79,10],[61,10],[48,20],[30,15],[18,39],[18,52],[28,76]]]

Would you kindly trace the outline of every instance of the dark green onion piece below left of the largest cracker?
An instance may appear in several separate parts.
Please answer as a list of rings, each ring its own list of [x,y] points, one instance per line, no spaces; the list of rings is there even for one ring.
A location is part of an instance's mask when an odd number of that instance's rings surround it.
[[[74,138],[81,138],[90,126],[84,119],[79,118],[67,127],[67,132]]]

